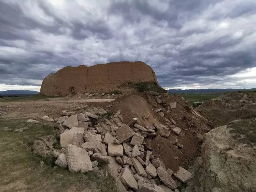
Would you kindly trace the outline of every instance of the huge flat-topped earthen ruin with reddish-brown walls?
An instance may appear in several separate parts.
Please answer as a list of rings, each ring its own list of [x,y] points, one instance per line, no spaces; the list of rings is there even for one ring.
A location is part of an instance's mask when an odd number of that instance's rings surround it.
[[[158,85],[155,72],[141,62],[111,62],[91,67],[65,67],[44,78],[40,93],[43,95],[67,95],[73,92],[130,91],[120,87],[127,82],[154,82]]]

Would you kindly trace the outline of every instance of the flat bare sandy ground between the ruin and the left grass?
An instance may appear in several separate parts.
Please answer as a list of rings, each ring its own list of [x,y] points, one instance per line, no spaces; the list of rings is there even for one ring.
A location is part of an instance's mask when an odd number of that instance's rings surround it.
[[[4,119],[39,119],[42,116],[60,117],[62,110],[82,110],[85,105],[105,106],[114,99],[75,99],[63,100],[53,98],[47,100],[0,102],[0,117]]]

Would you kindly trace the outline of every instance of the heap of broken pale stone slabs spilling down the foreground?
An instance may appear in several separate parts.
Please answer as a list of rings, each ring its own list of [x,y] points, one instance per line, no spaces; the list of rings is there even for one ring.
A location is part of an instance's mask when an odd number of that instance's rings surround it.
[[[138,191],[172,191],[180,182],[186,183],[192,178],[182,167],[176,172],[166,168],[152,153],[149,141],[156,136],[168,137],[171,132],[176,135],[172,144],[182,147],[178,142],[181,129],[174,124],[155,123],[152,127],[143,127],[135,117],[125,124],[121,110],[110,119],[87,109],[77,114],[62,111],[61,115],[54,119],[59,123],[62,147],[55,164],[61,168],[85,173],[98,172],[98,165],[103,165],[127,189]],[[52,121],[48,117],[42,119]]]

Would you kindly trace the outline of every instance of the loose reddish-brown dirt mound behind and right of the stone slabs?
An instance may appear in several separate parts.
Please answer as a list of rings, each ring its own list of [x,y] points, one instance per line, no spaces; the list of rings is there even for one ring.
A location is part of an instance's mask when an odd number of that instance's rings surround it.
[[[159,108],[162,113],[155,112]],[[171,132],[167,138],[146,137],[151,141],[154,156],[161,159],[166,168],[172,170],[177,170],[179,166],[186,167],[191,163],[191,159],[200,155],[202,135],[212,129],[209,121],[198,114],[180,95],[169,98],[166,94],[142,92],[118,98],[111,108],[104,109],[113,114],[120,109],[126,124],[132,118],[138,118],[138,123],[143,127],[154,128],[155,124],[162,124],[169,129],[179,127],[182,130],[179,136]],[[159,135],[157,130],[156,133]],[[176,137],[183,148],[177,148],[171,143]],[[178,160],[174,157],[178,157]]]

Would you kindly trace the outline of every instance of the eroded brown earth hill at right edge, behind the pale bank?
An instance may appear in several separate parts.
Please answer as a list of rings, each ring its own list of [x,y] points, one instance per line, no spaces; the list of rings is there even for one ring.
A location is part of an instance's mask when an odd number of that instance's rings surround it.
[[[256,113],[256,92],[233,92],[205,101],[197,107],[216,126]]]

